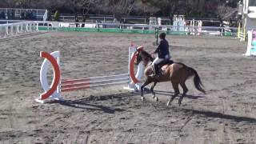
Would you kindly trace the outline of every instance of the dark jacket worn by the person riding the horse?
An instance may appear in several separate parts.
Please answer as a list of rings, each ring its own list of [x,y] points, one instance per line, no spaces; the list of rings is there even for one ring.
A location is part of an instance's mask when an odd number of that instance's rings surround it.
[[[166,41],[166,39],[162,39],[160,41],[160,45],[158,46],[157,50],[154,51],[154,54],[157,53],[158,58],[166,58],[167,54],[170,56],[169,43]]]

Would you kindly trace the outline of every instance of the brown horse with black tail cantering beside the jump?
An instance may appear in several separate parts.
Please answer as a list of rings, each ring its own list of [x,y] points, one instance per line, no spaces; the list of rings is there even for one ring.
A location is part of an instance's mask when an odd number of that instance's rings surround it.
[[[153,98],[158,101],[158,97],[155,97],[154,93],[154,86],[158,82],[168,82],[170,81],[173,88],[174,88],[174,95],[170,98],[170,100],[167,102],[167,106],[170,105],[171,102],[173,102],[174,98],[180,94],[178,90],[178,85],[180,84],[183,89],[182,96],[178,99],[178,105],[181,106],[182,99],[188,92],[188,89],[186,87],[186,80],[188,78],[191,78],[194,76],[194,86],[197,90],[201,91],[203,94],[206,93],[206,91],[203,89],[203,85],[201,82],[201,78],[198,75],[198,72],[194,70],[192,67],[186,66],[185,64],[181,62],[173,62],[169,60],[169,62],[166,62],[166,65],[161,67],[161,73],[158,77],[153,76],[153,66],[152,62],[154,61],[154,58],[147,53],[145,50],[137,50],[137,58],[136,63],[143,62],[145,66],[144,75],[146,76],[145,82],[141,86],[141,98],[142,101],[145,99],[143,95],[143,90],[145,86],[149,85],[151,82],[154,82],[154,84],[150,88],[150,92],[153,94]]]

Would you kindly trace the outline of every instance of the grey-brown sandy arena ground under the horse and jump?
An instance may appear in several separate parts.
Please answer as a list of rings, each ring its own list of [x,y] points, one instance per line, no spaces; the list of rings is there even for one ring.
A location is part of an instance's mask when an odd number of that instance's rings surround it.
[[[0,143],[256,143],[256,61],[246,42],[218,36],[168,36],[175,62],[198,71],[201,94],[187,81],[178,106],[166,102],[170,82],[146,94],[106,86],[63,93],[65,102],[39,104],[39,51],[60,50],[62,78],[127,72],[133,41],[154,50],[154,35],[47,33],[0,42]]]

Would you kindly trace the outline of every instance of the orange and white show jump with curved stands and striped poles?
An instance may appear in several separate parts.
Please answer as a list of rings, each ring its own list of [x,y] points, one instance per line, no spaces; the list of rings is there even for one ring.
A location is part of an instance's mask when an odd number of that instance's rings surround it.
[[[109,76],[101,76],[94,78],[78,78],[78,79],[61,79],[61,70],[59,66],[60,52],[54,51],[51,54],[41,52],[42,58],[46,58],[42,62],[40,70],[40,82],[45,93],[40,95],[40,98],[36,99],[36,102],[45,103],[51,100],[63,100],[61,97],[62,92],[69,92],[74,90],[84,90],[94,87],[112,86],[127,83],[126,90],[140,90],[142,71],[144,66],[142,62],[138,64],[137,74],[134,74],[134,61],[136,58],[137,49],[134,46],[130,46],[129,50],[129,66],[127,74],[115,74]],[[54,78],[51,86],[47,81],[47,71],[50,64],[54,67]]]

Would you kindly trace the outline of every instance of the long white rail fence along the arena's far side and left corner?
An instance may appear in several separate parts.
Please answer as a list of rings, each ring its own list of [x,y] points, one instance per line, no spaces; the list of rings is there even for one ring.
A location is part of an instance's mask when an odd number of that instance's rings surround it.
[[[176,30],[177,27],[181,28]],[[63,29],[63,28],[75,28],[75,29]],[[146,24],[120,24],[120,23],[88,23],[88,22],[42,22],[42,21],[22,21],[8,24],[0,24],[0,38],[12,38],[22,34],[30,34],[38,32],[39,30],[46,31],[86,31],[85,28],[92,28],[98,32],[102,30],[110,30],[112,32],[124,32],[126,30],[132,30],[133,33],[145,33],[151,34],[158,29],[166,31],[166,34],[189,34],[193,30],[193,34],[210,34],[210,35],[225,35],[226,32],[230,33],[230,36],[237,36],[238,28],[229,27],[231,31],[225,31],[226,27],[213,27],[213,26],[169,26],[169,25],[146,25]],[[94,31],[95,31],[94,30]],[[195,30],[195,31],[194,31]],[[152,33],[153,34],[153,33]]]

